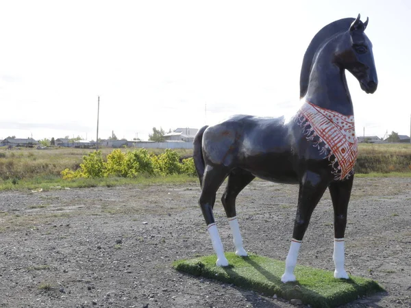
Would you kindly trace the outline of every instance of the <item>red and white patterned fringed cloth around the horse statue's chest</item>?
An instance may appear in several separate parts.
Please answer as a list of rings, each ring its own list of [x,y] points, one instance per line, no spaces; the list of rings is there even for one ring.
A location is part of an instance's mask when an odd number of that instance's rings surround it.
[[[358,155],[354,116],[345,116],[306,101],[296,121],[307,140],[314,141],[315,138],[313,145],[329,160],[334,179],[348,179],[353,175]]]

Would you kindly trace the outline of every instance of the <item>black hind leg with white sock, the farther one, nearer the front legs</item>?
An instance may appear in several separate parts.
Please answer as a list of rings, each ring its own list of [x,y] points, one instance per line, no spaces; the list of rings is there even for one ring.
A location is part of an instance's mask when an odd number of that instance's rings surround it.
[[[240,226],[236,216],[236,197],[245,186],[247,186],[255,177],[245,170],[234,170],[228,177],[228,183],[221,198],[225,214],[229,221],[229,227],[234,238],[234,246],[236,247],[236,255],[247,257],[247,252],[242,247],[242,238]]]

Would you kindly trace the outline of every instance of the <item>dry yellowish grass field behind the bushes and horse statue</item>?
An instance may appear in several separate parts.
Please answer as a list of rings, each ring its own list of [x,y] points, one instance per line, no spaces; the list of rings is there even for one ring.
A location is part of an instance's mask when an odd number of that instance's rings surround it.
[[[357,174],[371,172],[410,172],[411,144],[359,144]],[[122,151],[132,151],[122,149]],[[94,149],[13,149],[0,148],[0,181],[18,182],[21,179],[47,181],[60,177],[65,168],[77,170],[83,162],[83,156]],[[113,149],[103,148],[105,158]],[[164,149],[148,149],[156,155]],[[180,157],[192,156],[192,150],[176,150]]]

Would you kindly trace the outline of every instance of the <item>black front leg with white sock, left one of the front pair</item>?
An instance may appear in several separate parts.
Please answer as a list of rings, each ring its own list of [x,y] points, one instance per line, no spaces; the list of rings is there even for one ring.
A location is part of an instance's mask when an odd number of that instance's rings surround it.
[[[321,175],[311,171],[307,171],[300,181],[294,231],[292,232],[290,250],[286,258],[286,270],[281,278],[281,281],[284,283],[295,281],[294,269],[297,265],[299,248],[310,222],[312,212],[327,189],[327,183],[327,181],[321,178]]]

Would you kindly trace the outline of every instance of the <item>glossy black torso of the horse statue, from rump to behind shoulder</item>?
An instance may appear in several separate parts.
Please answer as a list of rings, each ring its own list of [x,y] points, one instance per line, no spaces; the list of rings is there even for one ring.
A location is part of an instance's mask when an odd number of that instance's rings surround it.
[[[263,179],[297,179],[284,118],[237,115],[208,127],[202,140],[206,164],[242,168]]]

